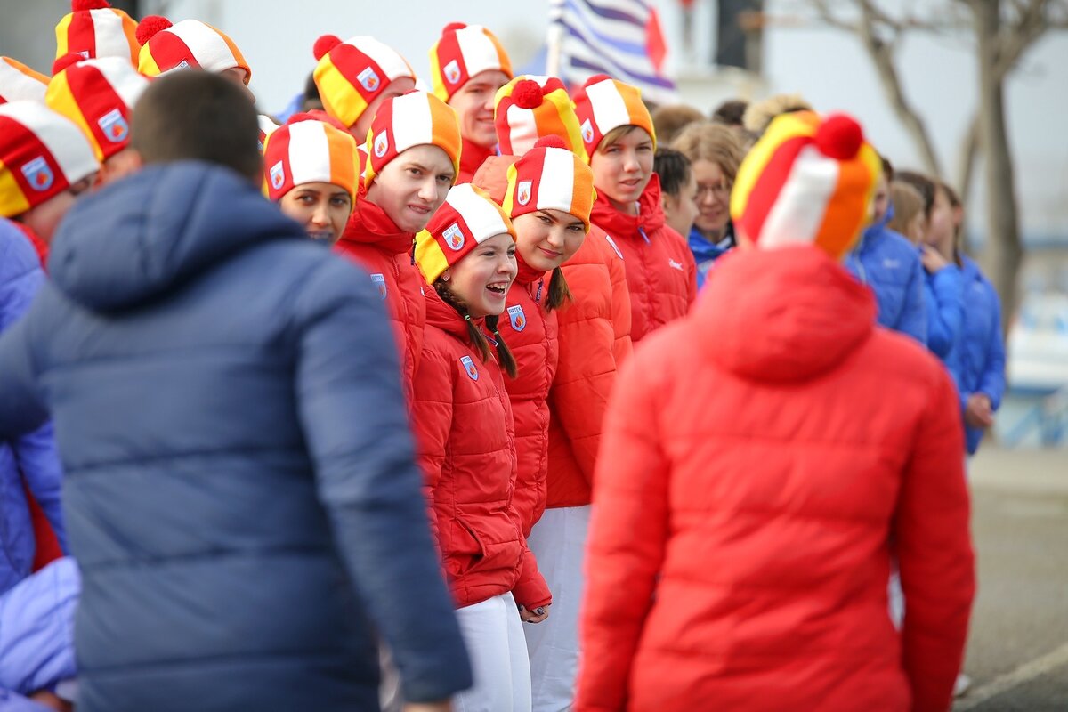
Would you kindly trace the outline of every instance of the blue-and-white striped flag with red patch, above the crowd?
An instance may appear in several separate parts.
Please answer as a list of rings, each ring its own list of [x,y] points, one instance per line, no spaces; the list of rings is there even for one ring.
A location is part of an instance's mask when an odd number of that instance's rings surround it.
[[[569,84],[607,74],[642,90],[654,104],[678,100],[675,82],[661,74],[666,53],[660,22],[646,0],[550,0],[550,53],[556,76]]]

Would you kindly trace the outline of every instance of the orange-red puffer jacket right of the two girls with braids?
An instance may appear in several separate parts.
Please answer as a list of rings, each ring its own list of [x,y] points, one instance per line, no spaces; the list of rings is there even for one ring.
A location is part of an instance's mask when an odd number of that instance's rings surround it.
[[[623,253],[591,225],[564,265],[575,299],[560,310],[560,361],[549,392],[549,508],[590,504],[601,426],[616,369],[630,357]]]

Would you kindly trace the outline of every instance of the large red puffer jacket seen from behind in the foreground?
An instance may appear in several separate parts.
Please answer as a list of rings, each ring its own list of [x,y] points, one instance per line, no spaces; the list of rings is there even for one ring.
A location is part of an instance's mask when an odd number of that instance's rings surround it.
[[[815,248],[704,292],[609,407],[576,709],[947,710],[974,592],[948,375]]]

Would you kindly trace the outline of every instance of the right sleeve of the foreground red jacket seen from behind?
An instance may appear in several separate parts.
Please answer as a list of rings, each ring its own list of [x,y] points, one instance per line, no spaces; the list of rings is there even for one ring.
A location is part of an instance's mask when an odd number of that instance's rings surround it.
[[[916,712],[949,709],[975,594],[960,415],[948,375],[938,368],[934,377],[894,532],[907,601],[904,665]]]

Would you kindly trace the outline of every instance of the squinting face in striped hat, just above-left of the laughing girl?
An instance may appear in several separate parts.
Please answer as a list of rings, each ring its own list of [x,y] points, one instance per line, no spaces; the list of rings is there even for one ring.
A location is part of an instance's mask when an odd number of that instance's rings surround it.
[[[375,176],[367,200],[402,231],[418,233],[445,202],[455,175],[444,151],[429,144],[412,146]]]

